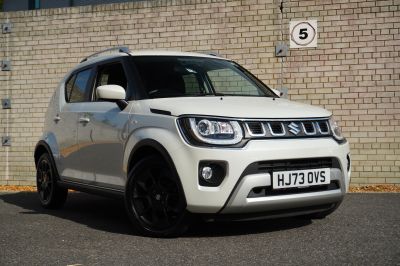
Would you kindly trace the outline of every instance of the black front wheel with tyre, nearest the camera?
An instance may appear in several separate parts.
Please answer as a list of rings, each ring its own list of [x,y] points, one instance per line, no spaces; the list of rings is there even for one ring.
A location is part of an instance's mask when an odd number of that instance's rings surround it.
[[[158,156],[133,167],[125,189],[125,206],[134,228],[151,237],[175,237],[188,227],[189,213],[176,171]]]

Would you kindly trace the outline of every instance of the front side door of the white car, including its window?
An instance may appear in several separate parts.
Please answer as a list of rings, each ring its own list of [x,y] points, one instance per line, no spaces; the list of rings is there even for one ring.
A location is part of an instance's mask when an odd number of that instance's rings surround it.
[[[121,61],[99,64],[92,91],[92,100],[85,104],[78,115],[79,153],[90,168],[95,184],[101,187],[121,189],[126,173],[122,162],[124,143],[127,138],[129,110],[124,112],[116,103],[97,97],[97,87],[119,85],[128,88]]]

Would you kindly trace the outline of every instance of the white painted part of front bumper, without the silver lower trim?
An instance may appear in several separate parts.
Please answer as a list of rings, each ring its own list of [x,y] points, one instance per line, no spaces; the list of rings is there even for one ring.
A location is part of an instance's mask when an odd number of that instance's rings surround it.
[[[176,164],[179,176],[192,176],[181,178],[185,195],[190,195],[187,199],[188,210],[215,213],[225,205],[246,167],[257,161],[335,157],[344,173],[340,180],[340,194],[344,196],[350,182],[349,173],[345,170],[348,153],[348,143],[339,145],[332,138],[318,138],[252,140],[243,148],[203,148],[187,144],[171,156],[174,162],[179,162]],[[193,177],[194,173],[198,172],[201,160],[227,162],[228,172],[219,187],[202,187],[198,184],[197,176]],[[265,186],[268,185],[269,179],[269,176],[265,177]]]

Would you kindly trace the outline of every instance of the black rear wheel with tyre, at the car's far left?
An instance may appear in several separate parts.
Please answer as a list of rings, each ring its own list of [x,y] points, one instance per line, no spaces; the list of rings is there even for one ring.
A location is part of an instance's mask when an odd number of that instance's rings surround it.
[[[37,163],[36,187],[40,203],[46,209],[59,209],[67,199],[68,189],[59,187],[57,179],[49,154],[42,154]]]

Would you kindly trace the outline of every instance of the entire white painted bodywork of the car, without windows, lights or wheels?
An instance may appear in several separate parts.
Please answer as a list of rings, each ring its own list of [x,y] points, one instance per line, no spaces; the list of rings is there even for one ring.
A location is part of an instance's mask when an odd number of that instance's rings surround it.
[[[129,56],[209,55],[145,51]],[[118,57],[126,57],[119,54]],[[112,102],[66,103],[65,82],[71,73],[91,64],[116,59],[102,56],[81,63],[61,81],[54,93],[41,140],[51,149],[61,180],[87,187],[118,190],[123,193],[132,153],[149,140],[165,149],[174,164],[185,194],[187,210],[193,213],[235,214],[340,202],[348,191],[348,142],[333,137],[251,139],[243,147],[198,147],[189,144],[179,128],[181,116],[212,116],[236,120],[329,118],[331,112],[281,98],[202,96],[140,99],[129,101],[124,110]],[[221,59],[222,60],[222,59]],[[131,77],[130,77],[131,79]],[[132,93],[135,95],[135,93]],[[157,109],[159,112],[154,112]],[[89,121],[80,123],[80,118]],[[331,169],[340,188],[333,191],[278,195],[248,199],[254,186],[270,186],[271,176],[243,175],[257,161],[333,157],[340,167]],[[226,176],[218,187],[200,186],[199,162],[224,161]]]

